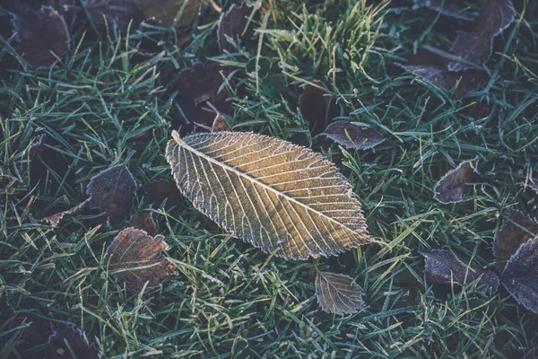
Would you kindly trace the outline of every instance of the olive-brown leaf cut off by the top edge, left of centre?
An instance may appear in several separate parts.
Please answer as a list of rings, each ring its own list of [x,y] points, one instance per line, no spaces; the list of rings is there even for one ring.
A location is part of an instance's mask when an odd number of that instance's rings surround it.
[[[164,26],[188,26],[206,4],[202,0],[140,0],[143,14]],[[179,15],[179,17],[178,17]]]

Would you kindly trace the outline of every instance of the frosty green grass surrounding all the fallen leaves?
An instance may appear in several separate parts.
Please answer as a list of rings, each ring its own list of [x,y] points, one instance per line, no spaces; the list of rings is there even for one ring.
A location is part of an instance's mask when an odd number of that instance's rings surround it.
[[[449,46],[464,22],[412,10],[411,0],[375,9],[351,0],[261,5],[233,54],[219,55],[219,13],[210,7],[191,28],[147,25],[119,39],[98,37],[77,22],[74,52],[62,62],[36,71],[19,58],[21,65],[4,75],[0,356],[27,357],[20,342],[28,315],[82,328],[104,357],[516,358],[529,352],[538,343],[535,315],[503,288],[488,297],[475,285],[427,284],[419,251],[449,249],[497,271],[491,243],[507,209],[537,213],[538,197],[519,183],[538,178],[538,3],[516,2],[517,22],[495,40],[487,63],[490,82],[463,102],[394,64],[413,48]],[[136,48],[148,41],[158,51],[135,65]],[[0,57],[13,58],[11,52],[4,47]],[[354,186],[371,235],[388,247],[286,261],[230,238],[187,203],[154,208],[178,276],[157,291],[129,294],[103,260],[122,223],[101,223],[99,211],[74,215],[58,228],[37,221],[81,203],[91,177],[132,151],[128,167],[139,186],[132,213],[147,208],[142,186],[171,179],[164,149],[176,129],[169,122],[181,114],[169,84],[180,69],[206,58],[232,70],[231,125],[325,153]],[[256,62],[265,67],[256,71]],[[350,152],[313,140],[297,101],[300,85],[317,79],[338,96],[340,119],[381,128],[387,141]],[[31,179],[21,166],[41,134],[53,145],[47,159],[36,160],[42,177]],[[436,181],[476,155],[480,175],[464,202],[434,201]],[[365,307],[348,316],[320,311],[314,265],[355,278]]]

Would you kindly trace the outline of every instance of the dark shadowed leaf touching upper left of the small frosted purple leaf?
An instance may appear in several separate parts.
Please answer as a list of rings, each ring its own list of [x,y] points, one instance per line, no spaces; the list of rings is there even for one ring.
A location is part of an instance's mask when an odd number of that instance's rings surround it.
[[[312,84],[306,84],[299,96],[299,111],[303,118],[308,121],[310,130],[317,135],[339,115],[340,109],[334,103],[333,97],[328,95],[325,83],[315,80]]]

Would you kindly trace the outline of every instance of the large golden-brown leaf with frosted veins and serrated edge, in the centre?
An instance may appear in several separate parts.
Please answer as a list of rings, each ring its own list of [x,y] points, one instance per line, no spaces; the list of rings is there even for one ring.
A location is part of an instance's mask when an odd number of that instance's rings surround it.
[[[172,133],[181,193],[225,231],[283,258],[332,256],[372,242],[360,202],[333,163],[253,133]]]

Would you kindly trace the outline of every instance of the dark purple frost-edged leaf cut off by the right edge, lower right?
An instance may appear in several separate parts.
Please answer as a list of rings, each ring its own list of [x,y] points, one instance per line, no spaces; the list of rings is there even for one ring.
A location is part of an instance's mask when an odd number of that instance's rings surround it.
[[[538,314],[538,237],[519,247],[508,260],[501,280],[519,304]]]

